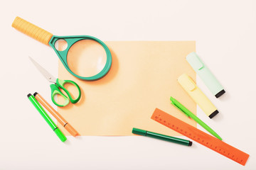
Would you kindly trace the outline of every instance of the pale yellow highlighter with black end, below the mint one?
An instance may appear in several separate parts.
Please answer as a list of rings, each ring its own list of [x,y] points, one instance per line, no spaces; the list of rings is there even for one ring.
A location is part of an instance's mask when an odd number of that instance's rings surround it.
[[[198,106],[209,116],[213,118],[218,114],[217,108],[210,102],[209,98],[203,94],[203,91],[196,86],[196,83],[188,76],[188,74],[182,74],[178,77],[178,83],[181,84],[183,89],[189,96],[195,101]]]

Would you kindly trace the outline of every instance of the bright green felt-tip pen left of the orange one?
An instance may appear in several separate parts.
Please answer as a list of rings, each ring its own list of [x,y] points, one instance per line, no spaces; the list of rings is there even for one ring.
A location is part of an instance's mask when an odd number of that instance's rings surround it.
[[[36,110],[43,116],[44,120],[46,120],[46,123],[50,125],[50,128],[55,132],[55,134],[60,138],[62,142],[65,142],[67,140],[67,137],[63,135],[63,132],[60,131],[60,129],[55,125],[53,120],[49,117],[49,115],[46,113],[46,111],[43,109],[43,107],[36,101],[36,98],[32,94],[28,94],[28,99],[31,101],[33,106],[35,106]]]

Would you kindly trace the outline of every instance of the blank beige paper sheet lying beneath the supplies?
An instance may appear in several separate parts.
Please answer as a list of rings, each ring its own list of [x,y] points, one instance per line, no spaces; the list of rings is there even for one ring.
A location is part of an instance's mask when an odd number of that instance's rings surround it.
[[[173,96],[196,113],[196,103],[177,82],[183,73],[196,80],[196,72],[185,59],[188,53],[196,51],[195,41],[105,43],[112,53],[112,67],[100,80],[76,79],[59,62],[58,78],[75,81],[81,88],[82,98],[76,104],[58,107],[58,112],[80,135],[133,135],[132,128],[179,135],[151,120],[155,108],[196,126],[169,100]],[[60,130],[70,135],[64,128]]]

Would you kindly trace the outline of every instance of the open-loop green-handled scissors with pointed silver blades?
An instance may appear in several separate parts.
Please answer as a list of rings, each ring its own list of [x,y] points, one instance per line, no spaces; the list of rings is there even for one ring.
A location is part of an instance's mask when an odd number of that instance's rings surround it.
[[[78,84],[76,84],[74,81],[71,80],[61,80],[61,79],[56,79],[55,77],[53,77],[49,72],[46,71],[46,69],[44,69],[43,67],[41,67],[40,64],[38,64],[35,60],[33,60],[31,57],[29,57],[29,59],[31,60],[31,62],[33,62],[33,64],[35,64],[36,68],[41,72],[41,74],[43,74],[44,77],[46,77],[46,79],[53,84],[50,84],[50,89],[51,89],[51,99],[53,101],[53,103],[56,106],[67,106],[69,102],[71,103],[77,103],[80,98],[81,98],[81,90],[80,87],[78,86]],[[73,84],[77,89],[78,89],[78,98],[73,99],[70,92],[68,91],[68,89],[65,89],[64,84]],[[65,91],[65,93],[68,95],[65,96],[65,94],[63,94],[60,89],[63,89],[63,91]],[[55,101],[54,96],[55,95],[60,95],[63,96],[63,98],[65,99],[63,104],[59,104]]]

